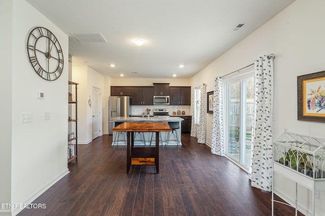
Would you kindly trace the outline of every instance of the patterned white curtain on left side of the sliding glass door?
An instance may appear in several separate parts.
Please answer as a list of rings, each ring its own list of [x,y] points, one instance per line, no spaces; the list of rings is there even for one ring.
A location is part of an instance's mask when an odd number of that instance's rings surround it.
[[[214,78],[211,153],[224,156],[222,77]]]

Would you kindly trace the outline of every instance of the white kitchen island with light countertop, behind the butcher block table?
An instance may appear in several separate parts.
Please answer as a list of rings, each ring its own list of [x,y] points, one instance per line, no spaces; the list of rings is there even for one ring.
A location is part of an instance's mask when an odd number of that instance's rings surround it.
[[[114,117],[109,119],[110,121],[113,121],[113,125],[115,125],[116,122],[178,122],[179,123],[179,129],[176,129],[173,133],[177,133],[178,136],[178,145],[182,145],[181,141],[181,132],[182,132],[182,121],[184,120],[183,118],[180,117],[163,117],[163,116],[145,116],[145,117],[135,117],[135,116],[129,116],[129,117]],[[167,136],[169,133],[172,132],[160,132],[160,139],[159,145],[177,145],[175,141],[170,141],[167,142]],[[152,136],[152,132],[144,132],[144,142],[142,142],[142,137],[137,136],[135,137],[135,145],[150,145],[155,143],[155,136]],[[113,131],[113,142],[114,138],[117,135],[116,132]],[[112,143],[113,145],[113,143]],[[118,144],[116,143],[115,145],[123,145],[124,143],[119,142]]]

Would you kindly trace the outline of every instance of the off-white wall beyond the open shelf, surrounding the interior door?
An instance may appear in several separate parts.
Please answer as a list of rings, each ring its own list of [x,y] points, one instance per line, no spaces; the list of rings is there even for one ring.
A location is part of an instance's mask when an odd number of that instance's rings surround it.
[[[73,61],[73,60],[72,60]],[[72,66],[72,80],[78,84],[78,144],[92,141],[92,109],[88,105],[89,96],[92,101],[92,87],[104,92],[104,76],[88,66]],[[74,90],[72,92],[74,94]],[[101,94],[101,110],[103,110],[103,94]],[[101,112],[103,118],[103,111]],[[101,135],[103,121],[100,122]]]

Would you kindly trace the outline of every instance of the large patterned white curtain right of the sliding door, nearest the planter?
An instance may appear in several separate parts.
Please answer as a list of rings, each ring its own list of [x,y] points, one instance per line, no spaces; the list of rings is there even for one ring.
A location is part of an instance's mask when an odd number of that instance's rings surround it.
[[[273,58],[254,61],[254,112],[249,167],[251,186],[265,191],[272,187]]]

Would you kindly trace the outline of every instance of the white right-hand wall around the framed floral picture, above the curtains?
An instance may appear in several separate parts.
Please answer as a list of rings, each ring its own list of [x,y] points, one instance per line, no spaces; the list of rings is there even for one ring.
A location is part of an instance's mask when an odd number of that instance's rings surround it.
[[[213,90],[213,77],[222,76],[245,67],[259,56],[275,54],[274,60],[274,119],[273,137],[277,138],[284,128],[298,134],[325,137],[325,124],[297,120],[297,76],[325,70],[325,42],[322,28],[325,1],[297,0],[265,25],[254,31],[236,46],[224,53],[210,65],[191,78],[191,85],[207,83],[207,92]],[[207,114],[207,141],[211,143],[212,115]],[[290,185],[292,182],[275,178],[276,185]],[[308,206],[311,197],[303,193],[299,202]],[[278,190],[286,199],[293,198],[290,187]],[[325,194],[321,193],[322,201]],[[309,200],[308,200],[309,199]],[[316,199],[316,212],[325,211]]]

